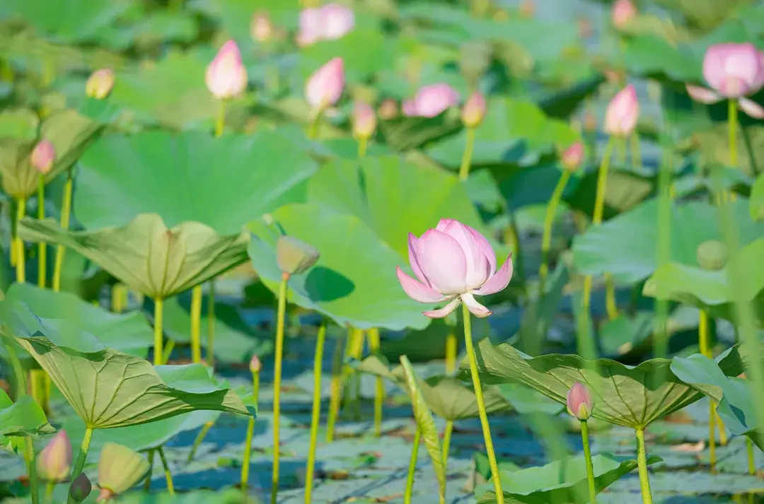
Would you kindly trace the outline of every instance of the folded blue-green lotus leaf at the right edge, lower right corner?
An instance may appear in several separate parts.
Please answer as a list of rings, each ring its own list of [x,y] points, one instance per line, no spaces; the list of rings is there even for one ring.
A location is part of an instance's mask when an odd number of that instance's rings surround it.
[[[717,412],[733,434],[748,436],[764,450],[764,437],[756,419],[755,393],[749,380],[726,376],[714,360],[702,354],[675,357],[671,369],[717,403]]]

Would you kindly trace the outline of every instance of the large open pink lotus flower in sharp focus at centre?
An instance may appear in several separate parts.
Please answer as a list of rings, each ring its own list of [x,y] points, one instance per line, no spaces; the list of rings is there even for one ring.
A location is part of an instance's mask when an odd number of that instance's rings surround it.
[[[464,302],[473,315],[491,314],[474,295],[486,296],[507,288],[512,278],[512,255],[496,270],[496,254],[482,234],[454,219],[444,218],[435,229],[417,238],[409,234],[409,263],[417,279],[396,273],[410,298],[427,303],[448,301],[442,309],[424,312],[443,318]]]

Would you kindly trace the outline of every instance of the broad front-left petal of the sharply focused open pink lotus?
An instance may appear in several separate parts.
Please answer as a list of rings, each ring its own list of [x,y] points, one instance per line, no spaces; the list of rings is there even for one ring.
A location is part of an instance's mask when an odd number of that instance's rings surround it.
[[[432,289],[445,296],[467,290],[467,260],[453,237],[429,229],[416,241],[416,262]]]

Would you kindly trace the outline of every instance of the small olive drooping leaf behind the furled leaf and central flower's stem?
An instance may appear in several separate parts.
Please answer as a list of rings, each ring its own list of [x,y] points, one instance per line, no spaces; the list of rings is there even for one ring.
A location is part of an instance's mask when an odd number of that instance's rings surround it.
[[[403,367],[390,367],[384,357],[371,355],[359,363],[354,363],[353,367],[361,373],[381,376],[403,389],[408,386]],[[475,399],[474,390],[452,376],[430,376],[426,380],[419,380],[419,393],[424,397],[429,409],[445,420],[478,416],[478,400]],[[512,405],[498,387],[486,386],[483,389],[483,399],[488,413],[512,410]]]

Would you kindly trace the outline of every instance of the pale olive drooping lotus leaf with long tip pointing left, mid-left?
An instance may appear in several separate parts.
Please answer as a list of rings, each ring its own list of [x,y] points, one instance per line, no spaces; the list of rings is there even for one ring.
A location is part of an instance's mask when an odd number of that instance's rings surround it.
[[[50,218],[24,218],[19,234],[24,240],[75,250],[155,299],[174,296],[243,263],[249,240],[247,233],[221,236],[199,222],[168,228],[157,214],[141,214],[125,226],[98,231],[69,231]]]

